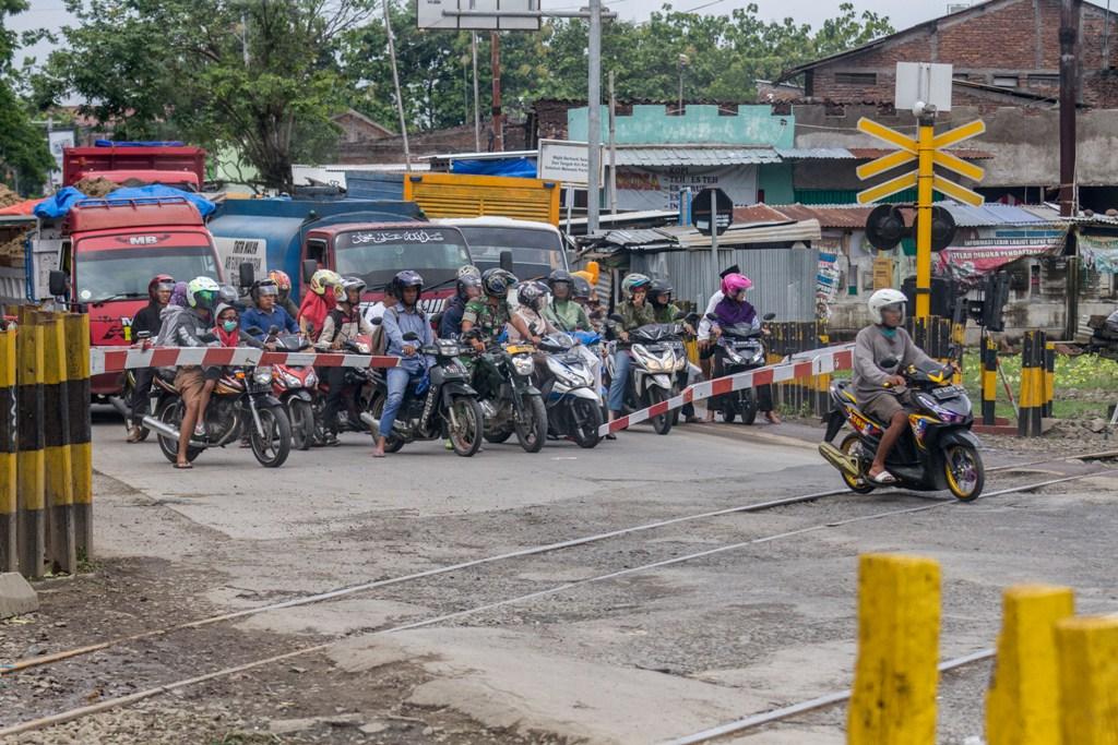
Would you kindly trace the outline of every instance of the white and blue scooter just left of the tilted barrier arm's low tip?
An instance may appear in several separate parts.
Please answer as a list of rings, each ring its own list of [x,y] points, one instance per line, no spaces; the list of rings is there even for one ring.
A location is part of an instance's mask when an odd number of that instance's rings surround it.
[[[593,448],[600,440],[601,427],[594,353],[563,332],[544,336],[540,351],[547,353],[540,392],[548,410],[548,431],[570,437],[580,448]]]

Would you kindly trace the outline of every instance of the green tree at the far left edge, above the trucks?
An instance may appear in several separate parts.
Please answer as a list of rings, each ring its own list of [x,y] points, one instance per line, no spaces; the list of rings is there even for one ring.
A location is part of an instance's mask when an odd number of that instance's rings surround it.
[[[19,38],[4,21],[27,8],[25,0],[0,0],[0,175],[23,191],[29,191],[29,184],[41,185],[54,165],[46,133],[31,123],[12,76]]]

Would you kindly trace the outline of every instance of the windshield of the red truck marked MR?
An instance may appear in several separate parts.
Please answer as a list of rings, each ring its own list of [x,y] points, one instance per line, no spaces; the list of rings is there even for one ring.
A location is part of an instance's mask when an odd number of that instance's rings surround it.
[[[75,256],[75,289],[82,303],[145,298],[148,283],[158,274],[169,274],[180,281],[218,278],[211,246],[84,250],[78,243]]]

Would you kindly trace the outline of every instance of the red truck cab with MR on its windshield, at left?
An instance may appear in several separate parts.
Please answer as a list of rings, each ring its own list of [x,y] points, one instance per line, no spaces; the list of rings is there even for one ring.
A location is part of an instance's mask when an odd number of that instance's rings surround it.
[[[40,239],[58,240],[58,268],[69,276],[69,299],[88,309],[94,346],[132,343],[132,318],[148,304],[155,275],[221,280],[214,239],[182,198],[85,200],[60,225],[45,225]],[[93,393],[116,394],[122,380],[94,376]]]

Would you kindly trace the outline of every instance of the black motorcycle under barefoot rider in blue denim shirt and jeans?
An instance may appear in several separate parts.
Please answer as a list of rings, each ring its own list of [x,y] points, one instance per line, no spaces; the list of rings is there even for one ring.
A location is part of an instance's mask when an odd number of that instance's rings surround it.
[[[419,340],[415,332],[404,335],[407,342]],[[454,452],[468,458],[481,448],[485,426],[477,391],[470,386],[470,372],[458,357],[463,348],[457,340],[440,338],[421,347],[420,353],[435,359],[427,374],[408,384],[391,432],[385,433],[385,450],[396,452],[416,440],[448,439]],[[388,398],[383,371],[377,372],[370,412],[361,420],[380,431],[380,420]]]

